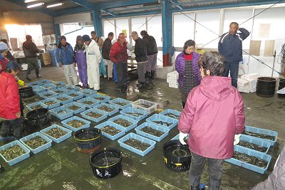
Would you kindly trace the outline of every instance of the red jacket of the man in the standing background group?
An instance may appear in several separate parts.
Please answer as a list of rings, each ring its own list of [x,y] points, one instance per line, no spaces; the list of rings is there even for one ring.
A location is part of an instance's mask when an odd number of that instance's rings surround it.
[[[127,63],[128,62],[128,53],[127,53],[127,43],[124,42],[124,45],[121,46],[120,42],[115,42],[110,49],[110,60],[113,63]]]

